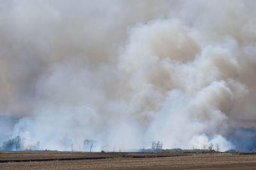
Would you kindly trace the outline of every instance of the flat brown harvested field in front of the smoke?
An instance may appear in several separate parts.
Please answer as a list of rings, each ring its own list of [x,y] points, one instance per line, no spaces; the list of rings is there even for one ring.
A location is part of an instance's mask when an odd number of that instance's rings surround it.
[[[0,169],[255,169],[252,153],[0,152]]]

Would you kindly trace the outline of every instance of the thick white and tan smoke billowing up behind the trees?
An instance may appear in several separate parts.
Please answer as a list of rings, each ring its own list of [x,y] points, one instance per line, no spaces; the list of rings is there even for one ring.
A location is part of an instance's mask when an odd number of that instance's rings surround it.
[[[53,150],[233,148],[228,120],[256,109],[255,5],[1,0],[1,115],[19,118],[1,132]]]

